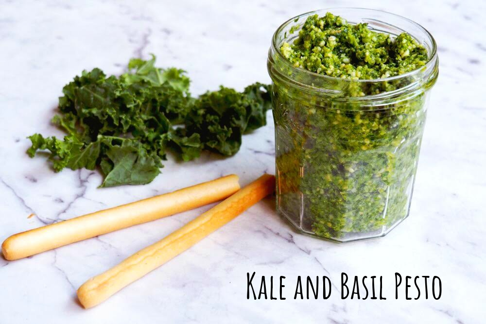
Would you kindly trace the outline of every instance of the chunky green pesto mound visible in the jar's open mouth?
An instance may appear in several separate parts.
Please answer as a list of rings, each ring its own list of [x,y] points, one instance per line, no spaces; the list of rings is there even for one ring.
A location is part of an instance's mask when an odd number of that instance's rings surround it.
[[[308,17],[294,43],[283,43],[280,51],[295,68],[353,80],[396,76],[427,63],[426,49],[411,35],[392,38],[329,12]]]

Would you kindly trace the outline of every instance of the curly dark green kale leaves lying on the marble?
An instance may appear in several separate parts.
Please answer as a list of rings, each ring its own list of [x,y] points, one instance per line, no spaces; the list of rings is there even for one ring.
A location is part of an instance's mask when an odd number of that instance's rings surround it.
[[[156,68],[155,56],[131,59],[128,72],[107,77],[94,68],[63,88],[52,122],[63,140],[34,134],[27,153],[49,150],[54,171],[100,167],[102,187],[151,182],[172,149],[183,161],[202,150],[233,155],[242,135],[266,124],[271,108],[268,85],[243,92],[221,86],[191,97],[190,80],[177,68]]]

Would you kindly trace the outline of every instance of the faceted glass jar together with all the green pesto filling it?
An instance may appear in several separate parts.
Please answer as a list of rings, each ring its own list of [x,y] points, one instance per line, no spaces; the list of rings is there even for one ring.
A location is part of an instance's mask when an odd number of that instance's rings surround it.
[[[382,11],[319,10],[278,28],[267,66],[278,213],[338,242],[386,235],[409,214],[432,35]]]

